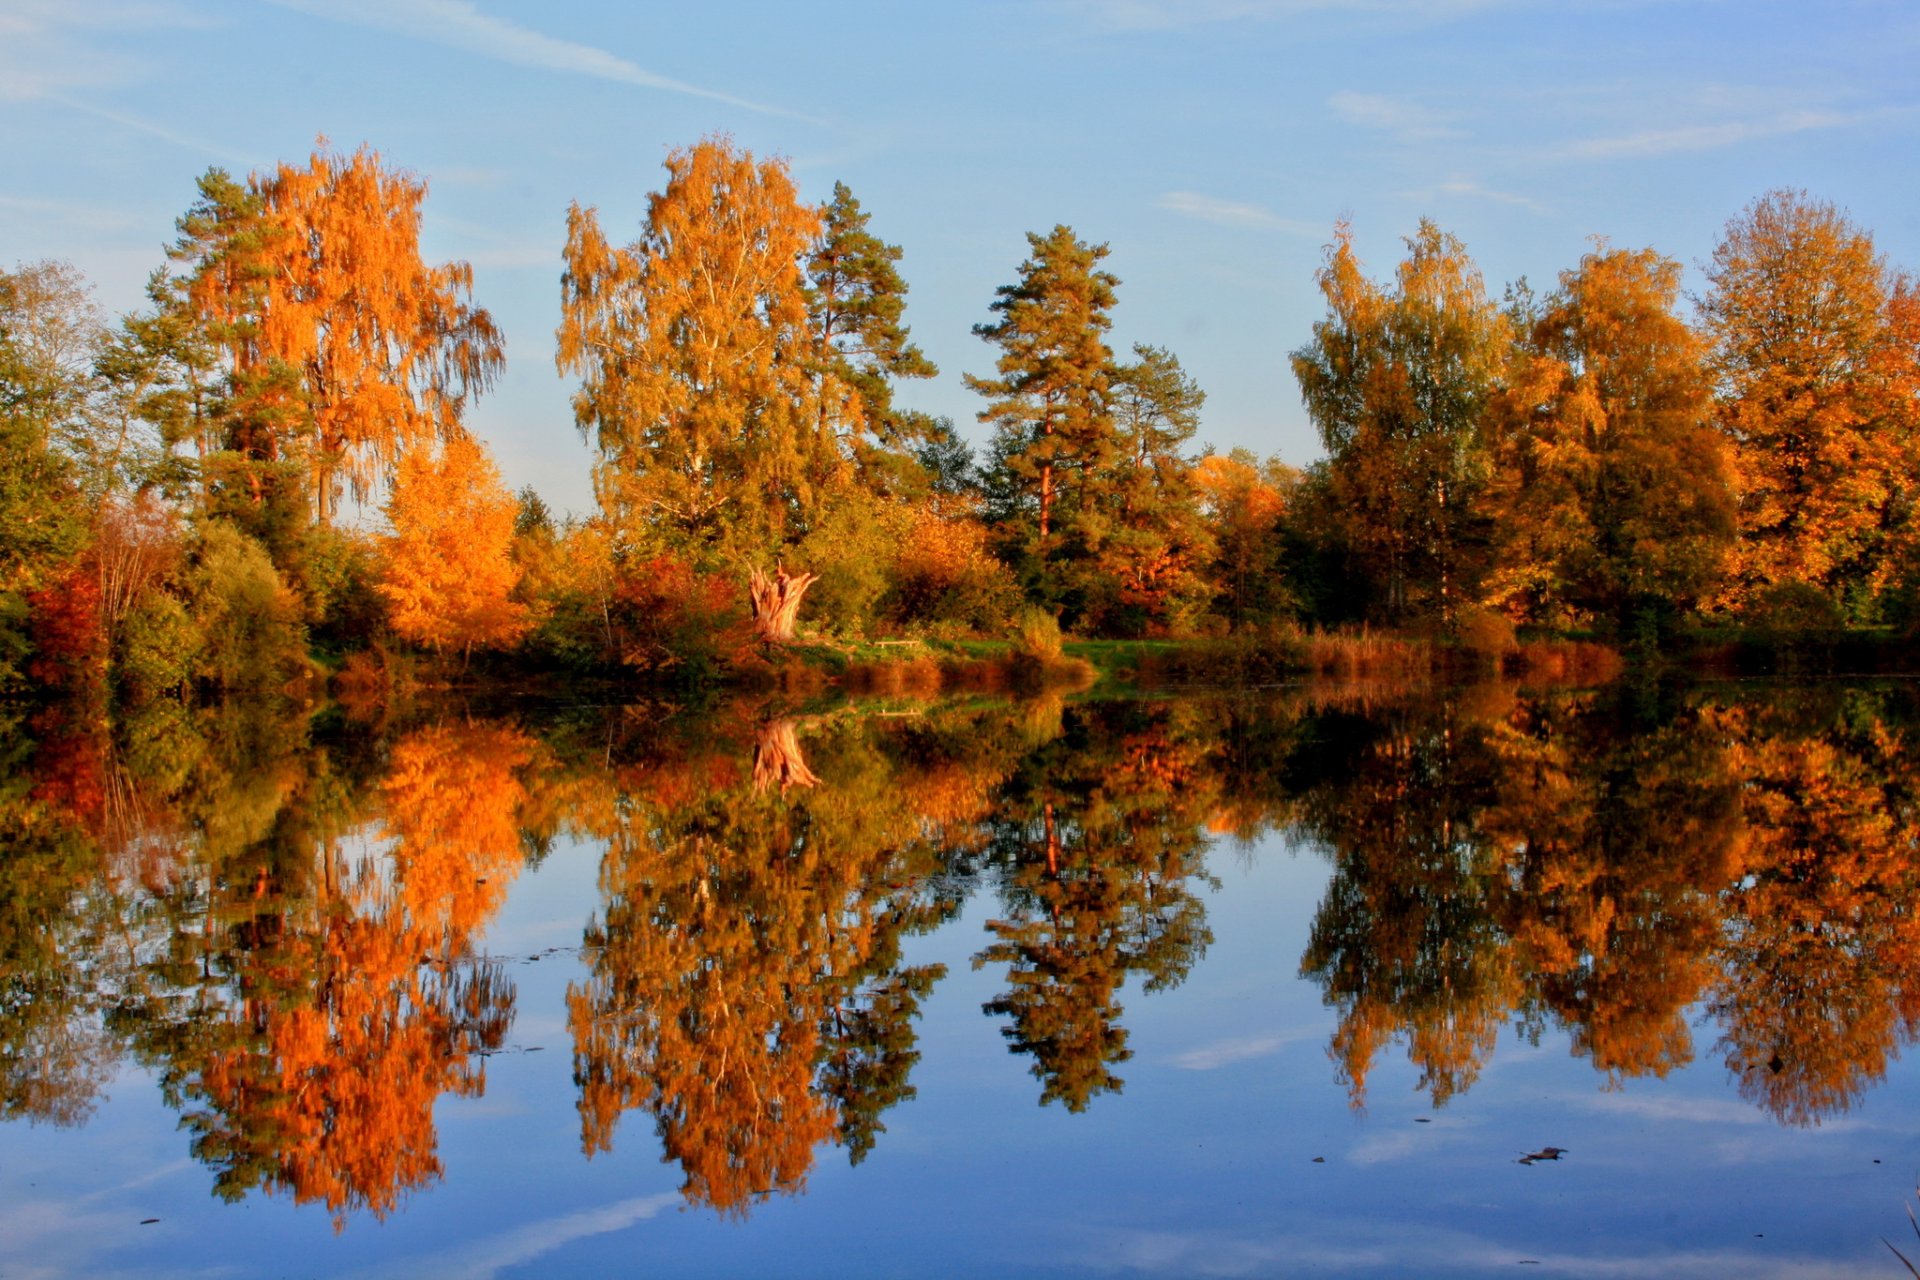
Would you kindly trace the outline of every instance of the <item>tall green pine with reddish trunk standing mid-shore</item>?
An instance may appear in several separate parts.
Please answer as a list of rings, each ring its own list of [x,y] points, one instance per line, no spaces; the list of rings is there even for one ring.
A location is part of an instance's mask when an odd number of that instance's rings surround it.
[[[1000,347],[998,378],[966,376],[987,397],[979,420],[995,428],[995,461],[1016,553],[1039,568],[1058,551],[1066,510],[1085,505],[1085,482],[1116,451],[1108,407],[1114,353],[1106,330],[1114,320],[1114,286],[1100,271],[1104,244],[1085,244],[1069,226],[1046,236],[1027,232],[1031,257],[1020,280],[996,290],[998,320],[975,324],[979,338]]]

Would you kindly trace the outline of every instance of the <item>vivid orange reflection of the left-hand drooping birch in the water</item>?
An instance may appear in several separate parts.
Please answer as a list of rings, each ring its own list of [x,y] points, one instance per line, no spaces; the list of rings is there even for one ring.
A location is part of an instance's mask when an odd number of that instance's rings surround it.
[[[380,787],[392,846],[353,856],[369,789],[309,754],[259,839],[171,896],[173,948],[125,1023],[221,1196],[286,1190],[344,1221],[440,1174],[434,1100],[480,1092],[474,1054],[513,1015],[468,938],[520,862],[528,758],[511,729],[409,735]]]

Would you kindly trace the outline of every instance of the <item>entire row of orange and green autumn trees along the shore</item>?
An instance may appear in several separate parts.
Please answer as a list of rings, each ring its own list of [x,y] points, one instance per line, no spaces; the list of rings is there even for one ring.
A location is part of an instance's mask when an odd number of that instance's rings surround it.
[[[1596,240],[1496,299],[1432,223],[1388,278],[1338,226],[1290,353],[1306,468],[1202,453],[1179,357],[1108,344],[1108,248],[1035,232],[973,330],[975,455],[899,403],[937,372],[900,248],[845,184],[808,203],[708,138],[636,240],[568,209],[555,361],[595,459],[568,518],[465,424],[503,338],[465,263],[422,261],[424,196],[324,142],[209,171],[113,324],[67,265],[0,273],[0,681],[282,687],[313,651],[724,672],[801,593],[828,637],[1916,616],[1920,294],[1805,192],[1728,223],[1692,309],[1653,249]]]

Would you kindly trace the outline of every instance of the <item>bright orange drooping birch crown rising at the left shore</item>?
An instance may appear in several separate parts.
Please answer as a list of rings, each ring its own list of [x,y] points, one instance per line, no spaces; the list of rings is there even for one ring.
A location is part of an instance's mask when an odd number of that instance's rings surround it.
[[[173,340],[180,390],[156,403],[175,438],[255,464],[298,462],[319,524],[342,482],[363,499],[415,445],[461,430],[468,399],[503,365],[493,319],[472,305],[467,263],[420,259],[426,182],[361,148],[313,152],[240,188],[219,169],[180,219],[156,282],[221,351],[205,395],[205,351]],[[250,478],[255,503],[261,478]]]

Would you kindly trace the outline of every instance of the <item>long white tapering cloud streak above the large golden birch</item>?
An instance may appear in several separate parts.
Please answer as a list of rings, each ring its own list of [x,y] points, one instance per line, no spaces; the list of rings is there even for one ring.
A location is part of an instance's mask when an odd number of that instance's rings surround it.
[[[639,88],[659,88],[670,94],[687,94],[724,102],[743,111],[762,115],[783,115],[787,119],[818,123],[799,111],[774,107],[764,102],[737,98],[714,88],[703,88],[666,75],[657,75],[618,54],[611,54],[591,44],[561,40],[541,35],[532,27],[482,13],[468,0],[275,0],[280,8],[330,17],[357,27],[394,31],[417,40],[445,44],[480,58],[513,63],[516,67],[536,67],[540,71],[559,71],[563,75],[584,75],[616,84],[637,84]]]

